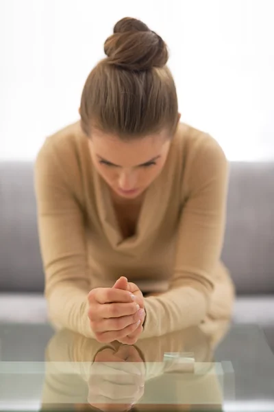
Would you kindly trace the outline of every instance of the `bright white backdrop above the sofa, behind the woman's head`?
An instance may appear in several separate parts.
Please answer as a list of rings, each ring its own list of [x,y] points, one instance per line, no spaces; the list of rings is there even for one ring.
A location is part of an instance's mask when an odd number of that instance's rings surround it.
[[[273,0],[0,0],[0,158],[34,159],[78,119],[82,87],[123,16],[168,43],[184,122],[230,160],[274,158]]]

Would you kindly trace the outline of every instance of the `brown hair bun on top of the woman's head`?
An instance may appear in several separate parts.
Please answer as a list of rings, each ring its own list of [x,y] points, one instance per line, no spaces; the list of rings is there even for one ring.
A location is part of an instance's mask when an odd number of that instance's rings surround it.
[[[169,59],[162,37],[137,19],[125,17],[114,26],[114,34],[105,41],[108,64],[127,70],[163,67]]]

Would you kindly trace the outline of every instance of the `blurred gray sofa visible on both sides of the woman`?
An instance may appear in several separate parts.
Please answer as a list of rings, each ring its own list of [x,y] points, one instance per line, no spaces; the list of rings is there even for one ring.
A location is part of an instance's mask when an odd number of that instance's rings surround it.
[[[231,162],[222,258],[236,284],[234,322],[274,336],[274,163]],[[0,161],[0,321],[46,321],[33,163]]]

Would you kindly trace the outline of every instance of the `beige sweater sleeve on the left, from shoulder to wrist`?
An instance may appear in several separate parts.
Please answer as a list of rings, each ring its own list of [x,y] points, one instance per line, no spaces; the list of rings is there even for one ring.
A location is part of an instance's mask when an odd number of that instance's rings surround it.
[[[64,170],[49,139],[38,152],[34,168],[49,318],[58,327],[94,337],[88,320],[90,282],[84,213],[73,190],[73,165]]]

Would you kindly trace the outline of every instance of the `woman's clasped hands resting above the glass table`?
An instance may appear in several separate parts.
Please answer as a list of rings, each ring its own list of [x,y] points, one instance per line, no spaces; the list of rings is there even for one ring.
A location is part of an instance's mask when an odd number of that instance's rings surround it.
[[[88,294],[90,328],[97,341],[134,345],[142,333],[145,304],[142,292],[126,277],[112,288],[95,288]]]

